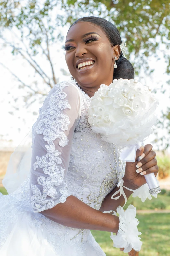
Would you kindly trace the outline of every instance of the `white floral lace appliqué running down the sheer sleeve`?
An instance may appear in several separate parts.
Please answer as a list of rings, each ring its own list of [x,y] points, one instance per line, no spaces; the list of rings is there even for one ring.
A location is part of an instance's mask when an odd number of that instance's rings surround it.
[[[36,185],[31,184],[33,192],[31,204],[32,207],[38,211],[54,207],[54,201],[50,199],[46,200],[46,198],[47,196],[55,198],[55,195],[57,194],[55,187],[61,184],[64,179],[64,169],[60,166],[62,163],[62,160],[59,157],[61,152],[55,149],[53,141],[59,138],[60,146],[64,147],[68,144],[68,139],[64,131],[68,130],[70,121],[67,115],[61,113],[61,110],[63,109],[71,109],[68,100],[64,101],[67,94],[63,92],[62,89],[66,86],[68,85],[65,84],[65,82],[59,83],[55,86],[56,90],[50,96],[48,107],[44,111],[40,109],[38,125],[37,122],[34,125],[34,129],[37,134],[43,134],[44,141],[48,143],[45,145],[47,154],[42,157],[37,156],[37,161],[33,165],[34,170],[37,168],[43,168],[44,174],[48,175],[47,178],[39,176],[37,180],[38,184],[43,187],[43,194],[41,194],[41,191]],[[59,192],[62,194],[59,201],[65,202],[68,196],[68,188],[62,188]]]

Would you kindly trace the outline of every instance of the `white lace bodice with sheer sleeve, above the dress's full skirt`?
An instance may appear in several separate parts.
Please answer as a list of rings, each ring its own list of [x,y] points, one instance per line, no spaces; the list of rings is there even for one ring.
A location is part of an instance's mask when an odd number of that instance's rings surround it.
[[[90,98],[74,82],[55,85],[33,125],[30,199],[41,212],[74,195],[95,209],[124,172],[119,151],[87,121]]]

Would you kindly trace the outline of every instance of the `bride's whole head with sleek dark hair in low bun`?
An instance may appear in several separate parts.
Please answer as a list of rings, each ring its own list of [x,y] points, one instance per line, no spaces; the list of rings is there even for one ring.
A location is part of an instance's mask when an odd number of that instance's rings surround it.
[[[105,19],[83,17],[70,26],[63,46],[65,60],[71,75],[90,97],[102,83],[134,78],[134,68],[120,50],[121,44],[119,31]]]

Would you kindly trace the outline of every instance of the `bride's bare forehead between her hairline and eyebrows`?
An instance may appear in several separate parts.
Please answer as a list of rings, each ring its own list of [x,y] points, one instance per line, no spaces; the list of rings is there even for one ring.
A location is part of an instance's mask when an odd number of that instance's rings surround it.
[[[81,38],[82,35],[89,32],[97,32],[101,37],[107,38],[103,30],[96,24],[90,22],[78,22],[73,25],[67,33],[66,40]]]

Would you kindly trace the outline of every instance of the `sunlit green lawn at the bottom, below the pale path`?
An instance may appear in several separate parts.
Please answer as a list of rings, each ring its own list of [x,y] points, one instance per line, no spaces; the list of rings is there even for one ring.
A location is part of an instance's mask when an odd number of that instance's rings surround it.
[[[140,256],[169,256],[170,255],[170,213],[137,214],[140,223],[138,230],[143,242]],[[126,255],[113,247],[110,232],[91,230],[107,256]],[[128,255],[128,254],[127,254]]]

